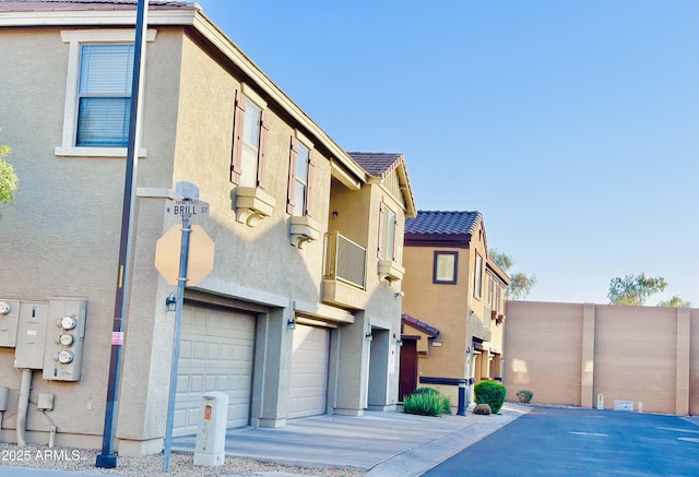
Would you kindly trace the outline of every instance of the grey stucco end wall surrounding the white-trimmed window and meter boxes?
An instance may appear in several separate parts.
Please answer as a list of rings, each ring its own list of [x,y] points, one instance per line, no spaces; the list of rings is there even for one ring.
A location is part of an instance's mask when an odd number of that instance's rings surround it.
[[[125,159],[56,156],[61,144],[66,100],[69,45],[60,28],[3,28],[0,59],[0,124],[2,142],[12,146],[9,160],[20,177],[16,200],[2,206],[0,242],[4,272],[0,275],[0,297],[45,301],[54,296],[85,297],[87,324],[86,357],[78,383],[47,382],[35,373],[33,393],[56,394],[51,418],[59,429],[80,434],[100,434],[104,425],[110,331],[117,283],[117,253],[123,198]],[[171,157],[177,95],[178,38],[159,32],[150,44],[145,95],[143,145],[147,158],[139,160],[138,186],[157,187],[169,177],[162,163]],[[42,68],[50,65],[50,68]],[[157,119],[156,119],[157,118]],[[157,123],[155,126],[154,123]],[[155,127],[153,127],[155,126]],[[165,177],[165,179],[163,179]],[[143,247],[159,234],[162,204],[140,203],[141,224],[134,234],[134,271],[153,273],[152,253],[143,259]],[[155,272],[156,274],[157,272]],[[134,281],[132,305],[142,312],[133,319],[135,336],[128,349],[140,349],[139,367],[150,366],[152,344],[134,346],[153,334],[154,286]],[[134,307],[135,309],[135,307]],[[145,319],[145,323],[143,322]],[[150,323],[150,324],[149,324]],[[143,326],[143,327],[141,327]],[[150,327],[150,329],[149,329]],[[10,407],[16,406],[20,370],[12,366],[13,349],[0,349],[0,385],[12,390]],[[133,387],[133,395],[142,393]],[[138,417],[137,417],[138,418]],[[14,426],[14,413],[5,413],[4,424]],[[143,419],[138,425],[143,427]],[[161,426],[162,427],[162,426]],[[27,429],[47,431],[50,422],[39,413],[29,413]],[[58,441],[60,443],[60,436]]]

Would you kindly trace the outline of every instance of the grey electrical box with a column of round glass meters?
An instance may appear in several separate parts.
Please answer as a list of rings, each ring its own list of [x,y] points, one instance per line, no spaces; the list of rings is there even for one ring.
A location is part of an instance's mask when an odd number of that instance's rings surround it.
[[[86,300],[75,298],[52,298],[49,300],[44,379],[80,380],[86,318]]]

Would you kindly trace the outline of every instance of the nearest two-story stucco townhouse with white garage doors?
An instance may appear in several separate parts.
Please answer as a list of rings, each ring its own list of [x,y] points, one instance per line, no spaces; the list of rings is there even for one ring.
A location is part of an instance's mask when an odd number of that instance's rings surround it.
[[[196,431],[209,391],[228,394],[229,428],[392,408],[403,271],[392,243],[415,214],[404,160],[384,175],[362,167],[196,3],[150,5],[131,273],[120,274],[134,19],[135,2],[0,3],[0,124],[21,180],[0,227],[11,308],[0,439],[22,427],[47,442],[56,426],[57,445],[98,448],[109,350],[122,346],[116,446],[163,449],[175,288],[154,257],[179,224],[167,210],[180,181],[210,204],[192,223],[215,255],[183,297],[174,434]]]

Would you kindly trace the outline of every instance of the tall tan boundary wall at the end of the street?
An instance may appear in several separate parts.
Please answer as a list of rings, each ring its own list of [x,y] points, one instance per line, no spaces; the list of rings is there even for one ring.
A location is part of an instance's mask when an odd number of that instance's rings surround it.
[[[508,301],[505,384],[534,403],[699,410],[699,310]]]

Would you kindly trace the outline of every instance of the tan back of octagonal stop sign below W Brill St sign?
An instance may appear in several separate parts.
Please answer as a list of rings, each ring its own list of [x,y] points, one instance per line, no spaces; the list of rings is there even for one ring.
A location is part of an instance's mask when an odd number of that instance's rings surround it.
[[[187,253],[187,286],[201,282],[214,267],[214,241],[199,225],[191,226]],[[170,285],[177,285],[182,226],[174,225],[155,242],[155,267]]]

